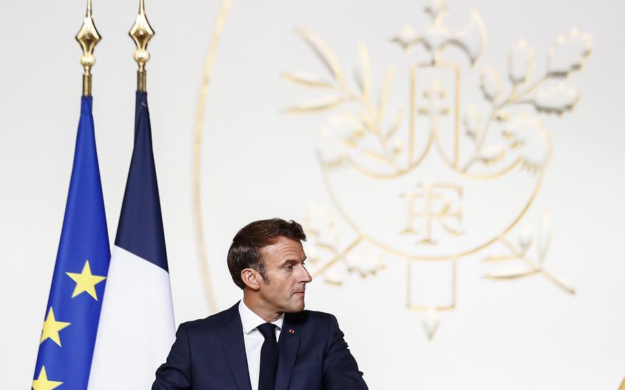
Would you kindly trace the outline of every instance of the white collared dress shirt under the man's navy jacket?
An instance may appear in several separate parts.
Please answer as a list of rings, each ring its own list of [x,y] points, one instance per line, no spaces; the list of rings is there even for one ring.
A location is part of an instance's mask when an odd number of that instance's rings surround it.
[[[258,390],[258,378],[260,376],[260,348],[264,342],[262,333],[256,327],[265,323],[264,319],[251,311],[243,300],[239,302],[239,314],[241,325],[243,325],[243,341],[245,341],[245,356],[247,356],[247,369],[249,371],[249,382],[252,390]],[[284,314],[279,319],[273,321],[275,328],[275,339],[280,340],[280,330],[284,322]]]

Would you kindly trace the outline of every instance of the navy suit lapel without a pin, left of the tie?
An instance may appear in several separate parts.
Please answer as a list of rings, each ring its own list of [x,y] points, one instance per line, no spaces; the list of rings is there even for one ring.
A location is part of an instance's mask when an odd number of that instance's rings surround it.
[[[251,390],[238,303],[229,308],[225,314],[220,328],[224,352],[239,390]]]

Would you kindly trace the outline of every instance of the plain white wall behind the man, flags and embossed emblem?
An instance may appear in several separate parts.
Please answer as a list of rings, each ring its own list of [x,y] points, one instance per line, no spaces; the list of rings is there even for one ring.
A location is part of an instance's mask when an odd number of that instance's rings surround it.
[[[217,1],[146,1],[157,32],[150,43],[148,91],[178,323],[209,314],[196,260],[192,142],[204,56],[219,7]],[[463,91],[473,95],[463,95],[463,105],[479,99],[485,65],[505,72],[508,49],[519,38],[536,48],[540,72],[558,34],[579,27],[593,35],[593,56],[571,77],[583,99],[572,113],[541,116],[554,152],[525,217],[535,225],[543,210],[549,213],[553,241],[547,264],[576,295],[541,275],[483,279],[481,259],[492,253],[469,256],[458,263],[457,308],[441,315],[428,341],[423,314],[405,309],[406,263],[385,255],[385,269],[375,277],[350,274],[340,288],[317,277],[308,308],[337,314],[372,389],[617,389],[625,375],[625,8],[620,1],[453,1],[449,25],[464,24],[473,7],[488,30],[488,46],[474,73],[464,68]],[[233,1],[203,124],[204,235],[220,309],[240,297],[225,253],[245,223],[271,216],[303,220],[307,205],[315,203],[330,207],[337,229],[350,235],[332,208],[315,159],[317,130],[327,115],[280,114],[316,96],[287,84],[281,73],[323,74],[295,28],[322,36],[346,69],[356,63],[362,40],[377,87],[386,65],[402,58],[389,38],[406,24],[422,27],[423,8],[420,1]],[[136,11],[128,1],[93,3],[104,37],[95,50],[93,114],[111,240],[132,150],[135,65],[126,34]],[[82,1],[11,2],[0,23],[5,389],[32,381],[78,124],[81,69],[73,36],[83,14]],[[462,62],[457,52],[450,55]],[[404,73],[398,71],[398,80]],[[401,84],[398,89],[407,91]],[[484,215],[489,218],[488,210]]]

